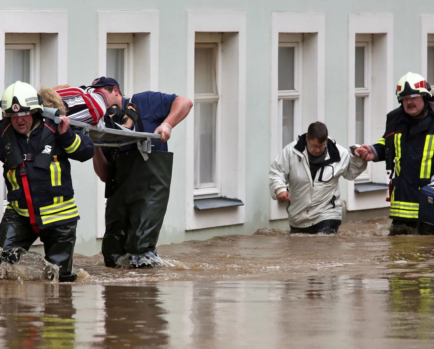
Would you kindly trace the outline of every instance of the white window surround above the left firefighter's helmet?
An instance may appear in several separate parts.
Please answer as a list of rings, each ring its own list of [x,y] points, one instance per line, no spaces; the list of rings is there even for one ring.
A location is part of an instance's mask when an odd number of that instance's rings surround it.
[[[23,45],[33,44],[33,74],[30,79],[36,89],[41,84],[56,86],[67,81],[67,43],[67,11],[0,10],[0,47],[3,47],[0,50],[0,67],[5,66],[5,45],[27,48],[30,46]],[[53,52],[56,54],[53,55]],[[4,83],[5,72],[2,68],[0,85],[3,87]],[[4,193],[3,181],[0,181],[0,193]],[[4,201],[6,197],[3,197]],[[39,243],[39,240],[35,242]]]

